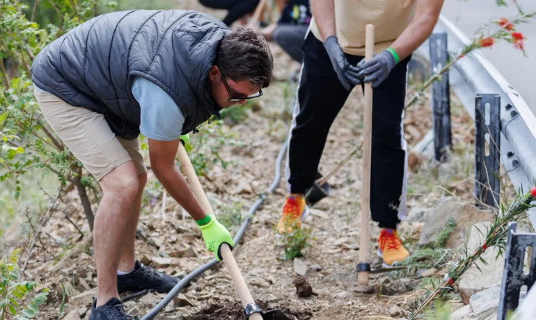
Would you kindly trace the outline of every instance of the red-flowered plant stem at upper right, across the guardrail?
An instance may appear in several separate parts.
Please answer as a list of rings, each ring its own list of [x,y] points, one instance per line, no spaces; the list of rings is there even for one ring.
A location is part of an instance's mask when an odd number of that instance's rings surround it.
[[[471,43],[466,45],[464,49],[462,49],[462,51],[453,56],[453,58],[441,70],[439,70],[439,72],[432,75],[432,77],[429,77],[429,79],[423,84],[423,86],[419,88],[419,90],[417,90],[417,93],[413,95],[411,99],[408,100],[406,106],[404,106],[404,109],[408,108],[412,104],[415,104],[420,99],[420,97],[424,95],[425,90],[434,81],[441,79],[441,74],[446,72],[459,59],[464,58],[464,56],[466,56],[475,49],[491,48],[497,42],[505,41],[512,43],[512,45],[514,45],[516,49],[521,50],[523,56],[526,56],[524,46],[525,37],[521,32],[517,31],[516,26],[519,24],[526,23],[529,19],[534,19],[535,17],[536,11],[533,11],[532,13],[523,13],[523,11],[519,9],[519,15],[517,15],[517,17],[513,17],[512,19],[501,17],[499,19],[494,19],[491,22],[488,22],[487,24],[481,26],[475,32]]]

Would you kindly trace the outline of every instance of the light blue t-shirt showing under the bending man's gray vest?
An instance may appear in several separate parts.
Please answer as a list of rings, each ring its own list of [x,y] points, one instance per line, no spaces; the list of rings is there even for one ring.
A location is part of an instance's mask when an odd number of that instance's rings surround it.
[[[38,88],[42,92],[47,92]],[[140,131],[143,136],[159,141],[173,141],[182,134],[184,116],[173,99],[151,81],[135,77],[132,95],[140,104]]]

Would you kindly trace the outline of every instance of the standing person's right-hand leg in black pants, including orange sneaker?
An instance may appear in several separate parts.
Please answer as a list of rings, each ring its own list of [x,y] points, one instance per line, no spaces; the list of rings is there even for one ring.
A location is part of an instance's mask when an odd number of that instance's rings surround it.
[[[407,151],[404,140],[404,102],[407,64],[400,61],[389,77],[372,90],[372,161],[370,211],[382,228],[378,240],[384,266],[408,257],[396,227],[406,212]]]

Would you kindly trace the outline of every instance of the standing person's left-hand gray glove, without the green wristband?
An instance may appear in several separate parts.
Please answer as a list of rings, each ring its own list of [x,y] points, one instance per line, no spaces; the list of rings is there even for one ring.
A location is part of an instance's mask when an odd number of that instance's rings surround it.
[[[350,83],[354,85],[361,83],[357,77],[357,68],[348,63],[344,51],[340,48],[336,35],[330,35],[324,41],[324,48],[326,48],[329,60],[331,60],[333,70],[337,73],[340,83],[346,90],[352,90]]]

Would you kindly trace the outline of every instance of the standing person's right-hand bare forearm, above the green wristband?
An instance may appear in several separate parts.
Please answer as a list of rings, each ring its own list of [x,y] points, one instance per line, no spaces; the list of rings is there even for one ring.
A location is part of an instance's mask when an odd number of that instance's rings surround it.
[[[397,51],[400,61],[407,58],[432,34],[444,0],[417,0],[415,15],[409,26],[391,47]],[[312,2],[312,1],[311,1]]]

